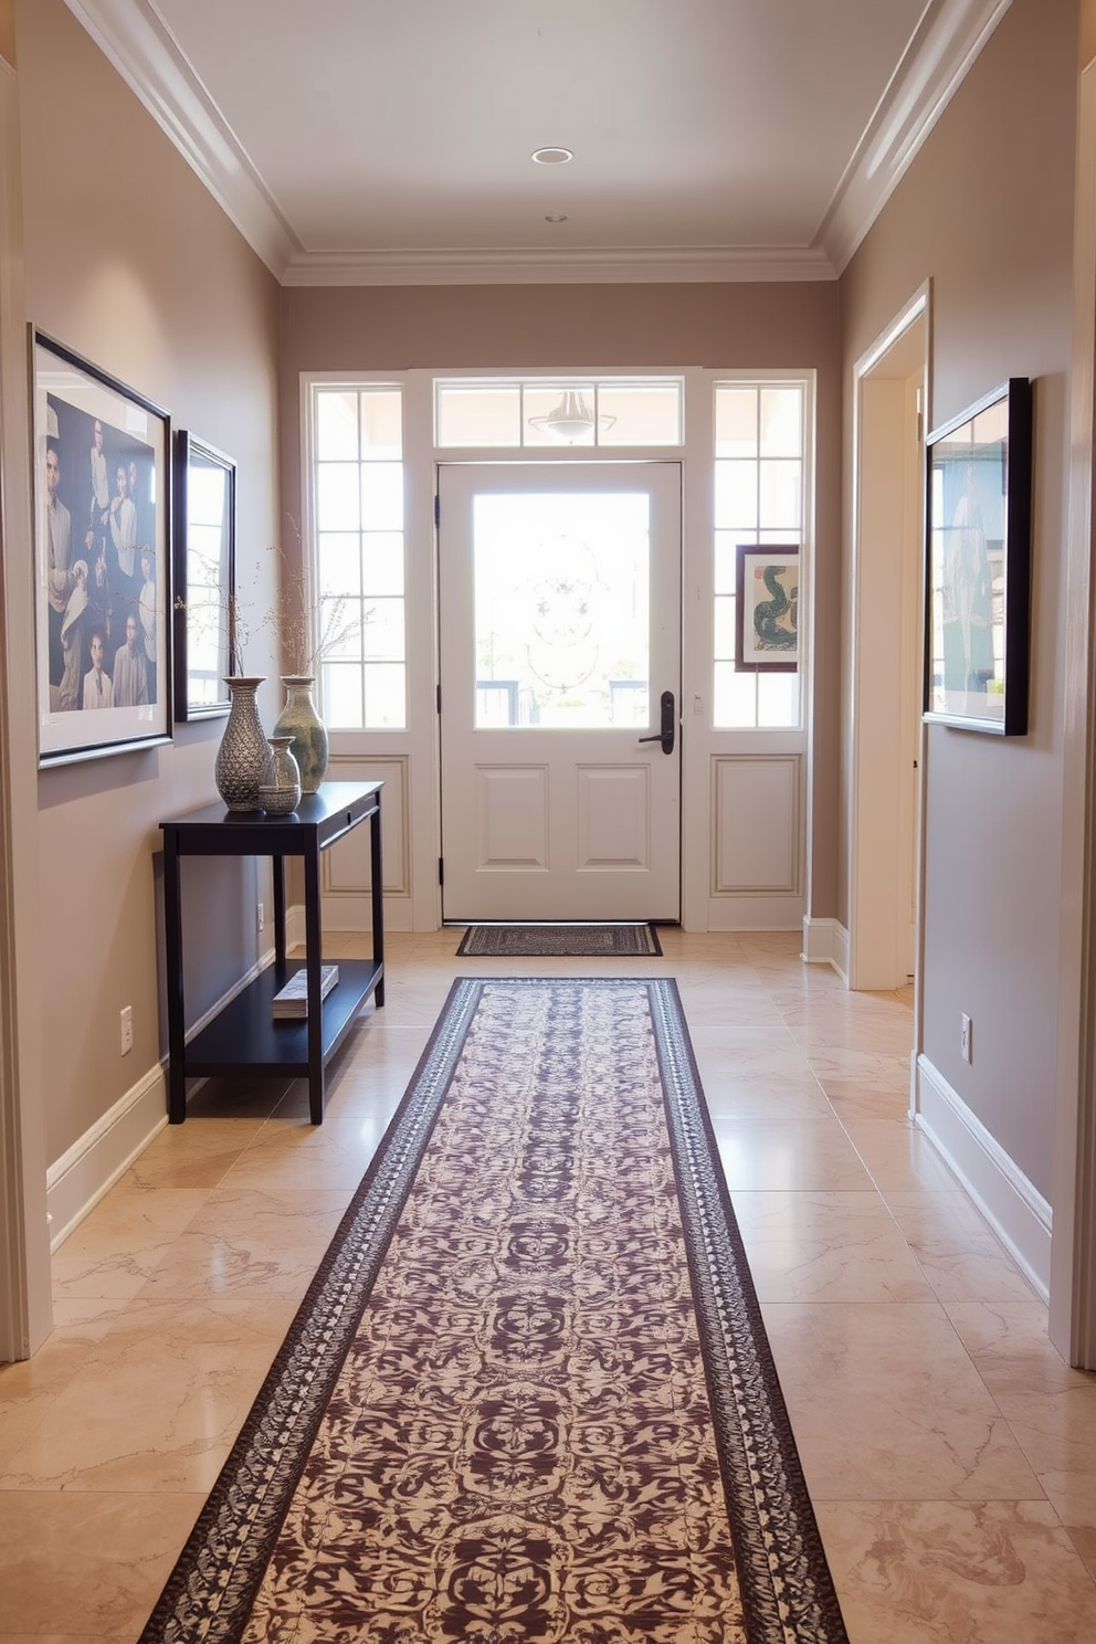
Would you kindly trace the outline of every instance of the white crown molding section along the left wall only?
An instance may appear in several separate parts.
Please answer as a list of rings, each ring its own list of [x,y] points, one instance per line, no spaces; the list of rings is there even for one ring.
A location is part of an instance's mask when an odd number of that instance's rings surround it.
[[[301,242],[150,0],[64,0],[276,279]]]

